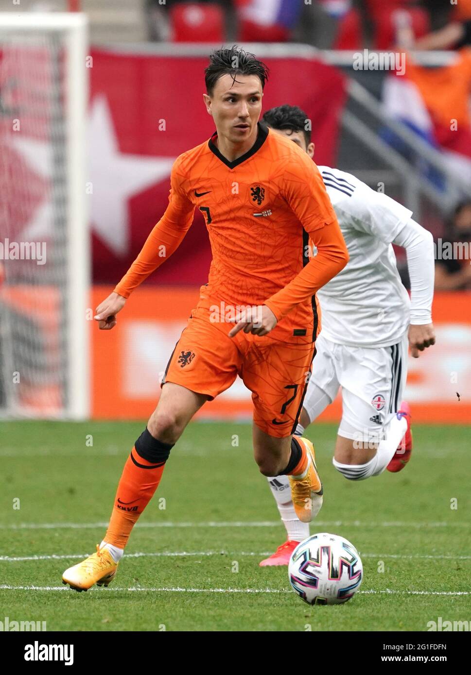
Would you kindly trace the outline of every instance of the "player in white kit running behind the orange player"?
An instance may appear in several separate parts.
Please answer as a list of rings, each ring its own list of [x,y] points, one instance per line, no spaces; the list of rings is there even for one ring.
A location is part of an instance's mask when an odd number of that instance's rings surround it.
[[[297,143],[310,157],[314,143],[307,115],[282,105],[265,113],[272,130]],[[345,478],[397,472],[410,458],[410,409],[402,401],[407,350],[414,358],[435,344],[432,325],[434,249],[432,234],[405,209],[350,173],[318,166],[349,250],[350,261],[318,291],[322,329],[299,425],[305,427],[342,387],[342,418],[332,462]],[[407,252],[411,298],[401,283],[391,244]],[[288,539],[261,566],[287,565],[295,546],[309,537],[291,502],[284,476],[268,479]]]

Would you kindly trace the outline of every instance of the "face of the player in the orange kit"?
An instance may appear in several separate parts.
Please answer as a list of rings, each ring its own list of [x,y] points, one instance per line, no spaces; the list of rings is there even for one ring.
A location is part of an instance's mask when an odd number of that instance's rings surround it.
[[[240,143],[257,134],[257,121],[262,113],[262,82],[256,75],[222,75],[212,96],[203,94],[209,115],[212,115],[218,136]]]

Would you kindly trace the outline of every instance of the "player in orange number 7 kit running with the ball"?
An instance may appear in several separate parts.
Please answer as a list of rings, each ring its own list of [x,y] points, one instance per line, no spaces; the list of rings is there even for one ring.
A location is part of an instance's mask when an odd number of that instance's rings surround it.
[[[166,212],[97,307],[99,327],[113,328],[132,290],[165,260],[162,250],[166,257],[176,250],[200,209],[213,256],[208,283],[170,356],[157,408],[126,461],[105,537],[62,576],[78,591],[114,578],[170,450],[195,412],[237,375],[252,391],[259,470],[289,476],[303,522],[322,506],[314,448],[293,432],[320,330],[315,294],[345,267],[348,253],[312,159],[259,124],[267,77],[264,63],[238,47],[209,57],[203,99],[216,132],[176,159]]]

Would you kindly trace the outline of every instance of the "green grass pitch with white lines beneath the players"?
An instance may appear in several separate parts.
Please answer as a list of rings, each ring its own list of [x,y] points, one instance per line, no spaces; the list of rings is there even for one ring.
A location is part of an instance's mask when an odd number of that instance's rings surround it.
[[[325,495],[311,533],[347,537],[364,564],[345,605],[310,607],[287,568],[259,568],[285,533],[242,423],[189,425],[114,582],[63,587],[61,572],[101,541],[143,428],[1,424],[0,620],[94,631],[427,630],[439,616],[471,620],[470,427],[415,425],[410,464],[357,483],[332,467],[337,427],[309,427]]]

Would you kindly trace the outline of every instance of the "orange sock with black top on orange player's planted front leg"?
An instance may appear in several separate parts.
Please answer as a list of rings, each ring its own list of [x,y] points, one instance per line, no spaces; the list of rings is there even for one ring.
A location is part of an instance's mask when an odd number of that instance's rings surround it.
[[[153,438],[147,429],[141,434],[124,464],[103,541],[124,549],[134,524],[160,483],[172,447]]]

